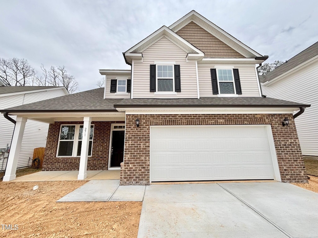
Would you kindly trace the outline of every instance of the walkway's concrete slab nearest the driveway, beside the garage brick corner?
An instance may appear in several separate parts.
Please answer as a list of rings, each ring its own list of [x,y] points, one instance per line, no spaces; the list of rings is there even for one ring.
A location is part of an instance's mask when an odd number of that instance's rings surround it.
[[[139,201],[142,202],[145,195],[145,185],[119,186],[109,201]]]

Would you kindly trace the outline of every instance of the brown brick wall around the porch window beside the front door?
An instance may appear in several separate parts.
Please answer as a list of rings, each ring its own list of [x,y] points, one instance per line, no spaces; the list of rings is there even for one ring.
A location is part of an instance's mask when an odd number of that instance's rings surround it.
[[[92,156],[87,159],[87,170],[106,170],[108,168],[111,123],[125,122],[91,122],[91,124],[94,124],[94,135]],[[83,124],[83,122],[55,122],[50,124],[42,168],[44,171],[79,169],[79,157],[56,157],[62,124]]]

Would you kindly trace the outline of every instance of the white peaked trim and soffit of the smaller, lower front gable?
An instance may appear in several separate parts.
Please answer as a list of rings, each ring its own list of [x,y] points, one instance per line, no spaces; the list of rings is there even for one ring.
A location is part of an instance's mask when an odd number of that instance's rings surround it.
[[[187,47],[189,47],[190,49],[194,50],[197,53],[203,53],[201,50],[199,50],[197,47],[193,46],[192,44],[190,44],[188,41],[186,41],[185,39],[183,39],[181,36],[179,36],[178,34],[176,34],[174,31],[170,30],[168,27],[166,26],[162,26],[161,28],[159,28],[158,30],[156,30],[154,33],[152,33],[150,36],[146,37],[145,39],[143,39],[141,42],[137,43],[135,46],[133,46],[132,48],[130,48],[129,50],[127,50],[125,52],[125,56],[126,53],[130,53],[134,50],[136,50],[138,47],[140,47],[142,44],[146,43],[147,41],[151,40],[151,38],[154,38],[157,35],[171,35],[172,37],[175,37],[176,39],[180,40],[182,43],[184,43]],[[149,45],[151,45],[152,43],[149,43]],[[144,47],[143,50],[147,49],[147,47]]]

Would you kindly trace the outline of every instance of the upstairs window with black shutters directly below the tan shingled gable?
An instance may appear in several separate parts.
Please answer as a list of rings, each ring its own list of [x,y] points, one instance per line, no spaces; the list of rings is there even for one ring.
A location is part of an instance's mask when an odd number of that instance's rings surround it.
[[[211,69],[212,93],[220,97],[242,94],[239,69]]]

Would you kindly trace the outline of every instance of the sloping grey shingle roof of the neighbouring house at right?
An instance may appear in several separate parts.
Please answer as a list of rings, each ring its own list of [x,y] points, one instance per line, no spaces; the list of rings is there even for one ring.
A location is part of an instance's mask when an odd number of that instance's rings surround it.
[[[271,81],[274,78],[286,73],[287,71],[295,68],[296,66],[306,62],[307,60],[315,57],[318,55],[318,42],[309,46],[306,50],[301,51],[298,55],[295,55],[287,62],[283,63],[273,71],[269,72],[268,74],[259,77],[261,83],[265,83],[267,81]]]

